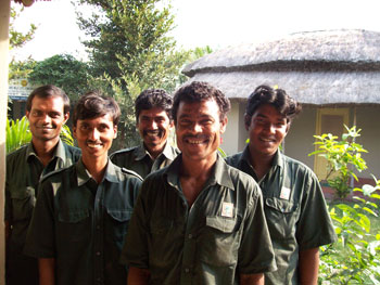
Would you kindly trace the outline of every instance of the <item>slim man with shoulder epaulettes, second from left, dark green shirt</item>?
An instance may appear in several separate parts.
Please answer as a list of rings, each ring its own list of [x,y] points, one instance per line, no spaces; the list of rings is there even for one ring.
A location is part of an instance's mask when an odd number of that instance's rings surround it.
[[[75,107],[81,157],[41,180],[25,244],[40,285],[126,284],[118,260],[141,178],[107,157],[119,116],[112,98],[93,92]]]

